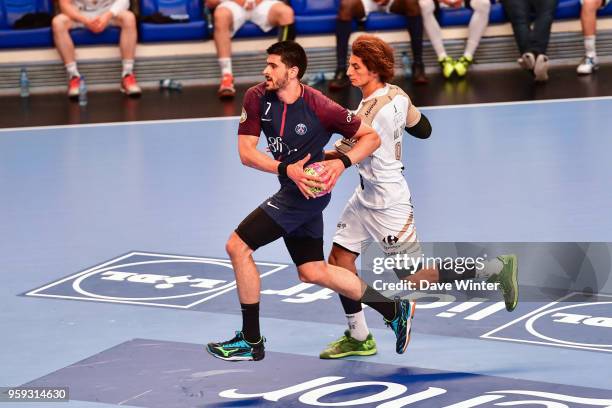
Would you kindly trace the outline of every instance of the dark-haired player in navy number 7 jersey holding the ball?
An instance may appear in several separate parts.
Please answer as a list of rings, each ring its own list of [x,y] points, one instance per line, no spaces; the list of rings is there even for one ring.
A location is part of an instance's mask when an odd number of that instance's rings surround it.
[[[301,281],[332,289],[378,311],[394,331],[396,352],[401,354],[408,344],[414,303],[386,298],[354,273],[325,262],[322,212],[331,194],[316,197],[312,191],[331,190],[346,168],[380,146],[380,138],[359,117],[300,82],[307,59],[298,43],[275,43],[267,54],[265,81],[244,96],[238,151],[245,166],[277,174],[280,189],[251,212],[227,241],[242,307],[242,330],[227,341],[209,343],[207,350],[223,360],[264,358],[265,339],[259,329],[261,285],[252,254],[283,238]],[[257,149],[262,132],[272,157]],[[334,133],[356,143],[339,158],[323,161],[323,147]],[[320,176],[304,173],[304,167],[315,162],[324,167]]]

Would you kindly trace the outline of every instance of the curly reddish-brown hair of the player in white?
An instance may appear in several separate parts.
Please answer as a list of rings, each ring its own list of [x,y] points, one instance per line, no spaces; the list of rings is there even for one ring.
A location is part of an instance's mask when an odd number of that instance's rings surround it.
[[[370,71],[376,72],[381,82],[389,82],[393,78],[393,48],[380,38],[371,34],[360,35],[353,42],[353,55],[361,58]]]

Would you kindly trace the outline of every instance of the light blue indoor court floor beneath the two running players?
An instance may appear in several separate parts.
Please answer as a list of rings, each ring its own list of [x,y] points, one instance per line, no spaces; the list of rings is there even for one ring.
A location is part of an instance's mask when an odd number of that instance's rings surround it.
[[[404,153],[421,240],[612,242],[612,99],[424,111],[432,138],[407,139]],[[424,302],[403,356],[368,311],[379,354],[327,362],[317,355],[344,330],[340,304],[300,285],[277,242],[255,254],[273,264],[262,265],[265,363],[213,360],[199,345],[240,327],[225,240],[277,187],[240,164],[236,128],[230,118],[0,131],[0,386],[65,384],[75,407],[612,406],[607,275],[596,298],[529,299],[479,319],[467,318],[496,304],[441,317],[459,303]],[[327,249],[357,179],[353,169],[334,190]],[[166,287],[143,274],[191,278]],[[244,396],[317,378],[276,401]]]

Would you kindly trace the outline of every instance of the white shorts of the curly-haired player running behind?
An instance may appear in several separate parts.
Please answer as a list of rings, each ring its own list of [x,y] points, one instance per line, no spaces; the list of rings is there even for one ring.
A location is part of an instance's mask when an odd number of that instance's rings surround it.
[[[377,242],[387,256],[421,255],[412,203],[373,209],[361,204],[356,194],[344,207],[333,242],[355,254],[361,254],[364,248]]]

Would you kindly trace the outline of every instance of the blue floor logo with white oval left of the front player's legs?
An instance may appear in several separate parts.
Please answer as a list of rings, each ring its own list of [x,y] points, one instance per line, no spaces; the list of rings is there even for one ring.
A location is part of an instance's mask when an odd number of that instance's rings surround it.
[[[286,265],[257,262],[261,277]],[[188,309],[236,288],[227,259],[130,252],[26,293]]]

